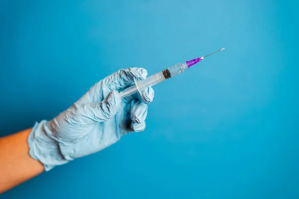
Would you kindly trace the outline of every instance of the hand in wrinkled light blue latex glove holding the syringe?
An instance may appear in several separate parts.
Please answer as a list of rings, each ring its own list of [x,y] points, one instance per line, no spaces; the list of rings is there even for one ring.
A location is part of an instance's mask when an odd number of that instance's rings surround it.
[[[46,171],[114,144],[122,135],[146,127],[147,103],[153,100],[151,88],[123,100],[122,91],[145,79],[143,68],[120,70],[95,84],[81,99],[50,121],[36,123],[28,137],[29,154]]]

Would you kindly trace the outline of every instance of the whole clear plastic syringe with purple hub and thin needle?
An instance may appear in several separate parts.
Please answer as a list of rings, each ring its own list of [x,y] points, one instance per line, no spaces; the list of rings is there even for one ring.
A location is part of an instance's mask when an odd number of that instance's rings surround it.
[[[185,71],[186,68],[190,68],[192,65],[200,62],[207,56],[210,56],[214,53],[217,53],[217,52],[223,51],[223,50],[224,50],[224,48],[217,50],[211,54],[208,54],[204,57],[198,57],[198,58],[192,59],[190,61],[186,61],[185,64],[181,64],[181,63],[175,64],[174,66],[171,66],[171,67],[169,67],[161,72],[158,72],[152,76],[149,76],[148,78],[146,78],[142,81],[137,81],[136,79],[134,79],[135,85],[125,89],[119,95],[121,98],[125,98],[125,97],[131,96],[137,92],[139,92],[141,94],[141,91],[143,91],[149,87],[152,87],[160,82],[163,82],[164,80],[172,78],[178,74],[181,74]],[[141,97],[143,97],[143,96],[141,95]]]

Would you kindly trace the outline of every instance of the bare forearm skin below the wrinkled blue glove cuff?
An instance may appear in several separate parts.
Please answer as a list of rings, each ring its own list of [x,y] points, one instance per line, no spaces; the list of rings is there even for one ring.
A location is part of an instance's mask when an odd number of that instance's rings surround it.
[[[44,171],[43,165],[29,156],[30,132],[31,128],[0,138],[0,193]]]

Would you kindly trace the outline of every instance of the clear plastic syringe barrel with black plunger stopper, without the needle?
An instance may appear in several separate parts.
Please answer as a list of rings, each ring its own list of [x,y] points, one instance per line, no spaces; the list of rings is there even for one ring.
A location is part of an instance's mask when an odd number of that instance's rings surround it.
[[[133,85],[133,86],[129,87],[128,89],[124,90],[123,92],[120,93],[120,97],[125,98],[127,96],[131,96],[131,95],[137,93],[138,89],[140,91],[143,91],[143,90],[145,90],[149,87],[152,87],[160,82],[163,82],[164,80],[166,80],[168,78],[172,78],[178,74],[183,73],[184,69],[186,69],[186,68],[187,68],[186,64],[181,64],[181,63],[175,64],[174,66],[172,66],[168,69],[158,72],[152,76],[149,76],[145,80],[138,81],[137,86]]]

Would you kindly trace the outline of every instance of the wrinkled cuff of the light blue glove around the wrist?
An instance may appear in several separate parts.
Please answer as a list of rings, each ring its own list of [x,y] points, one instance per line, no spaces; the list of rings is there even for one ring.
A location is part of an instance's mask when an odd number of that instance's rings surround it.
[[[29,155],[41,162],[45,171],[57,165],[66,164],[66,160],[59,149],[59,144],[51,138],[51,130],[47,127],[47,120],[35,123],[28,137]]]

